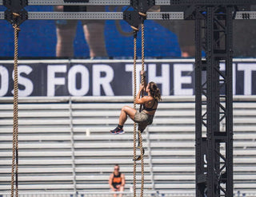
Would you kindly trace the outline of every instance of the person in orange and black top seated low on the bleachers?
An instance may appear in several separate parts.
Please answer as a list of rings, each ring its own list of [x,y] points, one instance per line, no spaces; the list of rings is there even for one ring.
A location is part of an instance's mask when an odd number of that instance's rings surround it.
[[[120,167],[118,164],[114,166],[114,172],[110,175],[109,184],[110,189],[112,191],[124,191],[126,179],[125,175],[123,175],[119,171]],[[114,197],[117,197],[116,194],[114,194]],[[122,197],[122,194],[119,194],[119,197]]]

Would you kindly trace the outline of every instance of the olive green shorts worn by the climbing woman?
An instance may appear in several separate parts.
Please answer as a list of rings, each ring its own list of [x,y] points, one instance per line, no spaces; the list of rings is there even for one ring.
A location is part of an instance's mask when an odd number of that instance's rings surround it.
[[[149,115],[146,112],[136,112],[134,116],[134,122],[138,123],[138,130],[143,132],[147,125],[153,123],[154,115]]]

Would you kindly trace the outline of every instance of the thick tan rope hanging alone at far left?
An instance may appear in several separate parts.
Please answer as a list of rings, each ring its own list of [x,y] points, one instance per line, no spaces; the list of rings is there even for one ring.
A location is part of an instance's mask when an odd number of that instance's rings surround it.
[[[14,14],[17,16],[17,14]],[[18,32],[19,27],[14,25],[14,126],[13,126],[13,157],[11,167],[11,197],[18,197]]]

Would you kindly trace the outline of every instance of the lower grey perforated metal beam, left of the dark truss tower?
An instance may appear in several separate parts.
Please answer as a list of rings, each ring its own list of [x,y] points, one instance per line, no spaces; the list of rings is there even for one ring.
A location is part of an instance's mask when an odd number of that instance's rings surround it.
[[[177,20],[184,19],[183,12],[148,12],[149,20]],[[4,12],[0,12],[0,19],[4,18]],[[122,12],[28,12],[29,20],[122,20]]]

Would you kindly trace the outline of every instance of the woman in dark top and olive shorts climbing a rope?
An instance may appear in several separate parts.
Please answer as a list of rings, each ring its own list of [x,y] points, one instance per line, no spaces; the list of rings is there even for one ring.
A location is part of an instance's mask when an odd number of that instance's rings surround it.
[[[142,72],[141,75],[145,76],[145,72]],[[147,96],[141,98],[142,91],[145,91]],[[138,112],[136,109],[130,108],[129,106],[124,106],[119,116],[118,126],[114,128],[114,130],[111,130],[110,133],[125,133],[122,128],[127,120],[127,115],[130,116],[134,122],[138,123],[138,130],[143,132],[147,125],[152,124],[154,113],[158,108],[158,101],[160,100],[160,89],[158,89],[158,86],[154,82],[151,81],[148,85],[146,85],[146,82],[143,85],[141,84],[135,102],[136,104],[142,104],[142,112]]]

